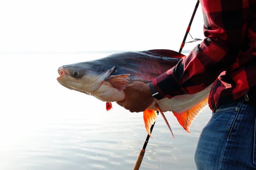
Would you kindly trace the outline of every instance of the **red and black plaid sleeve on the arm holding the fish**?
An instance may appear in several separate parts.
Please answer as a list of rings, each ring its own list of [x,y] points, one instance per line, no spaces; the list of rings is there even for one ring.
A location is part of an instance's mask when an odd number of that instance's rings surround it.
[[[202,91],[236,62],[245,38],[249,0],[201,0],[204,39],[187,57],[153,80],[160,95]]]

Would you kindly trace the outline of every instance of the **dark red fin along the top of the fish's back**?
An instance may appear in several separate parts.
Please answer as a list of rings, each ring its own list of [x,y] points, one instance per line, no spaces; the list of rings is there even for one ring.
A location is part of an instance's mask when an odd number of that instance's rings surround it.
[[[179,52],[176,52],[176,51],[173,51],[173,50],[165,50],[165,49],[148,50],[148,51],[142,51],[142,52],[148,53],[148,54],[151,54],[151,55],[154,55],[154,56],[162,55],[162,56],[165,56],[165,57],[172,57],[172,58],[186,57],[185,55],[183,55]]]

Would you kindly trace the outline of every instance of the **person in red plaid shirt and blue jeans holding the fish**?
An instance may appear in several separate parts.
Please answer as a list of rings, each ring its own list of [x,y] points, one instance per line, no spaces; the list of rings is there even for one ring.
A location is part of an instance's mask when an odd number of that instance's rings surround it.
[[[117,103],[142,112],[155,99],[211,86],[213,113],[199,137],[197,169],[256,169],[256,0],[201,0],[201,6],[201,44],[150,83],[134,81]]]

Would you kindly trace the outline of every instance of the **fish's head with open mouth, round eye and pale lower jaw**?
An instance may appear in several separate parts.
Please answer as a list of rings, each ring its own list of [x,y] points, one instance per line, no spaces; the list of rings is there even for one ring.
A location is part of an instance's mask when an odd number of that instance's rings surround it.
[[[111,69],[102,69],[100,72],[86,62],[69,64],[59,67],[57,81],[68,89],[92,95],[113,72]]]

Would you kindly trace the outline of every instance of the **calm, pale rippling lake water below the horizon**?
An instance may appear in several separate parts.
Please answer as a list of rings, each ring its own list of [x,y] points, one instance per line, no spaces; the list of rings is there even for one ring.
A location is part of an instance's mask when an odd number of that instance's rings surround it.
[[[57,69],[108,54],[0,54],[1,170],[132,170],[147,136],[143,113],[130,113],[66,89]],[[140,170],[194,170],[199,134],[211,117],[206,108],[191,134],[171,112],[159,115]]]

